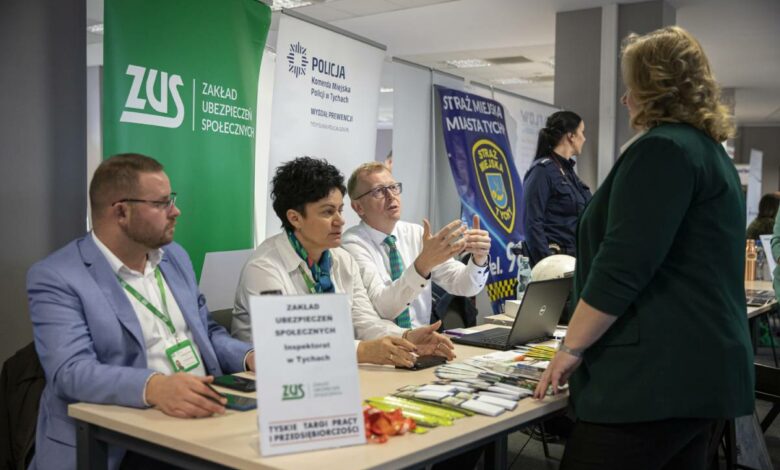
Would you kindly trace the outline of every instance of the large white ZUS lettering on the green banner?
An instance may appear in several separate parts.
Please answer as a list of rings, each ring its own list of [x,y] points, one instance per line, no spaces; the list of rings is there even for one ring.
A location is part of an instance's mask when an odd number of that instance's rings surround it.
[[[149,69],[146,73],[145,67],[137,65],[128,65],[127,74],[133,77],[133,84],[130,85],[130,93],[127,95],[125,108],[142,110],[146,107],[146,101],[159,114],[144,113],[138,111],[122,111],[119,118],[121,122],[131,122],[133,124],[145,124],[147,126],[176,128],[181,126],[184,121],[184,103],[179,95],[179,87],[183,85],[181,76],[171,75],[168,72],[159,72],[160,92],[159,97],[154,93],[154,84],[157,81],[158,71]],[[144,87],[144,76],[146,76],[146,86]],[[146,99],[141,98],[141,89],[144,88]],[[168,114],[168,91],[171,92],[171,98],[176,105],[175,116],[165,116]],[[162,114],[162,116],[160,116]]]

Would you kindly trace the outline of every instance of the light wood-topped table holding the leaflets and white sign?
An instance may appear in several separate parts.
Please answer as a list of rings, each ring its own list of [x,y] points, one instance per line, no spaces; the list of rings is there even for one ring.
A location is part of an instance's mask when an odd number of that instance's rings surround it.
[[[456,346],[459,358],[489,350]],[[387,395],[409,384],[435,380],[433,369],[396,370],[360,366],[363,398]],[[232,392],[231,392],[232,393]],[[185,468],[386,468],[422,466],[478,446],[488,445],[486,468],[506,466],[506,435],[566,407],[567,395],[543,401],[521,400],[512,412],[491,418],[473,416],[427,434],[392,437],[386,444],[366,444],[295,455],[262,457],[255,411],[182,420],[154,409],[79,403],[68,408],[78,421],[79,468],[106,468],[106,444],[129,448]]]

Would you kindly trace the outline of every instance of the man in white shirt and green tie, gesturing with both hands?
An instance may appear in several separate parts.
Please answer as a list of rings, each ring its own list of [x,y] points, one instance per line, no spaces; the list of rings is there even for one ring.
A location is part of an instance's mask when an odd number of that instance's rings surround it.
[[[374,308],[401,326],[427,325],[431,319],[431,281],[450,294],[471,297],[485,286],[490,236],[460,220],[431,234],[401,221],[401,183],[378,162],[358,167],[347,191],[361,223],[344,233],[344,248],[355,258]],[[467,252],[467,264],[453,256]]]

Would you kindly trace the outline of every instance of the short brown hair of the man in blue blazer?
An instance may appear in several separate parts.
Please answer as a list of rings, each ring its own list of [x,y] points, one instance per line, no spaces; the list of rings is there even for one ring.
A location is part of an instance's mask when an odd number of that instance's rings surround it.
[[[122,198],[133,197],[140,173],[159,173],[163,166],[154,158],[138,153],[109,157],[98,166],[89,184],[92,211],[102,209]]]

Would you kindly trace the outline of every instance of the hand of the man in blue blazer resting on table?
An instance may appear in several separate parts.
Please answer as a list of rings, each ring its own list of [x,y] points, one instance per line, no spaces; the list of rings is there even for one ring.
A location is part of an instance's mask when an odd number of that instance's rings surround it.
[[[199,377],[184,372],[173,375],[158,374],[149,379],[146,401],[163,413],[177,418],[202,418],[214,413],[223,414],[223,405],[227,400],[206,386],[213,381],[212,376]]]

